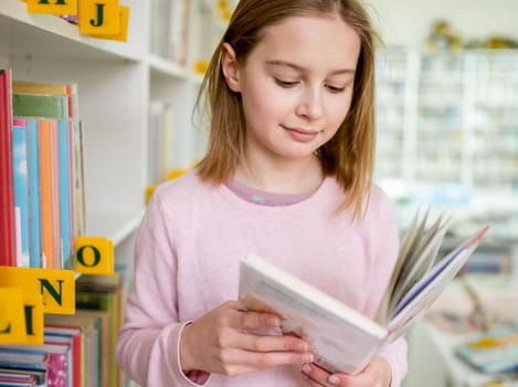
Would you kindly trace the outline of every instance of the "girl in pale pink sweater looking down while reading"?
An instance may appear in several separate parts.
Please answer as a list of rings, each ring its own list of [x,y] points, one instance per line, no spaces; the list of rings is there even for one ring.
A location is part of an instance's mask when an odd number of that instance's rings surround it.
[[[359,375],[313,365],[279,318],[244,312],[254,252],[373,317],[398,252],[371,184],[374,34],[359,0],[242,0],[201,93],[207,156],[160,186],[136,242],[117,357],[144,386],[399,386],[403,338]]]

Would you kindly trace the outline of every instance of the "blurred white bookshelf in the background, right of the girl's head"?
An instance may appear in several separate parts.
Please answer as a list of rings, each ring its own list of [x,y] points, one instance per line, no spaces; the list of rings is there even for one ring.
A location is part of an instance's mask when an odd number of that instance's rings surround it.
[[[516,194],[517,64],[517,50],[382,49],[378,181],[410,190],[457,186],[491,198]]]

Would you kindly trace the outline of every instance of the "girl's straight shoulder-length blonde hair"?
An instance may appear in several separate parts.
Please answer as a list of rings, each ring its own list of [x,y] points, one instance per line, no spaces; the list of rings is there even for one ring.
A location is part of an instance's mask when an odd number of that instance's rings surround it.
[[[336,135],[318,153],[324,174],[332,175],[347,192],[339,210],[352,206],[352,219],[361,217],[369,200],[374,165],[374,45],[377,34],[360,0],[242,0],[215,50],[202,82],[197,107],[209,114],[209,143],[198,172],[205,181],[221,184],[233,176],[244,151],[245,119],[241,95],[232,92],[221,71],[224,42],[239,63],[262,39],[268,25],[290,17],[339,15],[360,39],[350,109]],[[204,103],[201,106],[202,102]]]

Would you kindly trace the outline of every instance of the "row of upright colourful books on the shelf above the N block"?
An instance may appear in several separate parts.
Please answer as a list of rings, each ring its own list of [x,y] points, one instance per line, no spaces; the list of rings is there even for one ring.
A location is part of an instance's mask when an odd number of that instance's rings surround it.
[[[71,269],[85,231],[77,85],[0,80],[0,265]]]

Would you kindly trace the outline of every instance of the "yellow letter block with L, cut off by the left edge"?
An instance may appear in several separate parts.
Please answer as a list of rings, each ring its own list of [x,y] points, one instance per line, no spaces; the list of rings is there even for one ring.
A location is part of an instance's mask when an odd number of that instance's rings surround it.
[[[0,344],[27,343],[21,287],[0,287]]]

